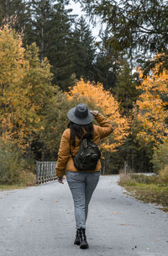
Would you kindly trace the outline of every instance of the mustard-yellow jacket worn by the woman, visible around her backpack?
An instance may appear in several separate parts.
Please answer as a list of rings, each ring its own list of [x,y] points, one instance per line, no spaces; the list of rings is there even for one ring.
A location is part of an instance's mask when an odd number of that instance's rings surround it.
[[[95,115],[94,118],[95,120],[97,120],[97,123],[100,125],[100,126],[93,125],[93,128],[94,128],[93,141],[96,144],[98,144],[98,142],[102,138],[108,136],[113,131],[113,126],[110,125],[108,120],[100,113]],[[80,147],[80,140],[76,137],[76,147],[72,147],[70,143],[70,135],[71,135],[71,130],[70,128],[68,128],[66,129],[66,131],[64,131],[60,140],[60,149],[58,152],[58,160],[56,164],[57,177],[62,177],[66,173],[66,171],[77,172],[77,169],[74,166],[73,159],[71,157],[71,152],[73,156],[76,155],[76,152],[79,150],[79,147]],[[71,147],[71,152],[70,152],[70,147]],[[90,170],[88,171],[95,172],[95,171],[100,171],[100,169],[101,169],[101,162],[100,160],[98,160],[96,169],[94,171],[90,171]]]

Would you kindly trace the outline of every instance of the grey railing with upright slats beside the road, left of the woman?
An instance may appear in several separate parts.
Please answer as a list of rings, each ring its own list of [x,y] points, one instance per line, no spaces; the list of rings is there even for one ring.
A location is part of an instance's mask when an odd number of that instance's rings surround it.
[[[56,179],[56,162],[36,162],[36,182],[45,183]]]

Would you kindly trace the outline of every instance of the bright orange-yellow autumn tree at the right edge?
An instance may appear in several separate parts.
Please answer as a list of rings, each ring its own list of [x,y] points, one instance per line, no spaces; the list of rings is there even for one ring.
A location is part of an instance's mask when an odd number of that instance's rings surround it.
[[[152,142],[155,145],[168,138],[168,71],[164,70],[159,74],[159,68],[158,64],[145,78],[143,72],[139,71],[141,84],[137,88],[142,93],[134,108],[135,120],[139,124],[139,141]]]

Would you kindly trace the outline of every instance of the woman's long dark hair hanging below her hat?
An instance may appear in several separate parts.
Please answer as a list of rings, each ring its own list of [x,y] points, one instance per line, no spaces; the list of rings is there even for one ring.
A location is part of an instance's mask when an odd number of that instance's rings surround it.
[[[71,141],[71,145],[73,147],[76,147],[76,136],[81,140],[82,136],[84,136],[84,134],[87,132],[88,134],[90,134],[91,139],[94,136],[94,128],[93,128],[93,124],[90,123],[88,125],[77,125],[75,123],[73,123],[72,121],[70,121],[68,123],[68,128],[70,128],[71,130],[71,136],[70,136],[70,141]]]

